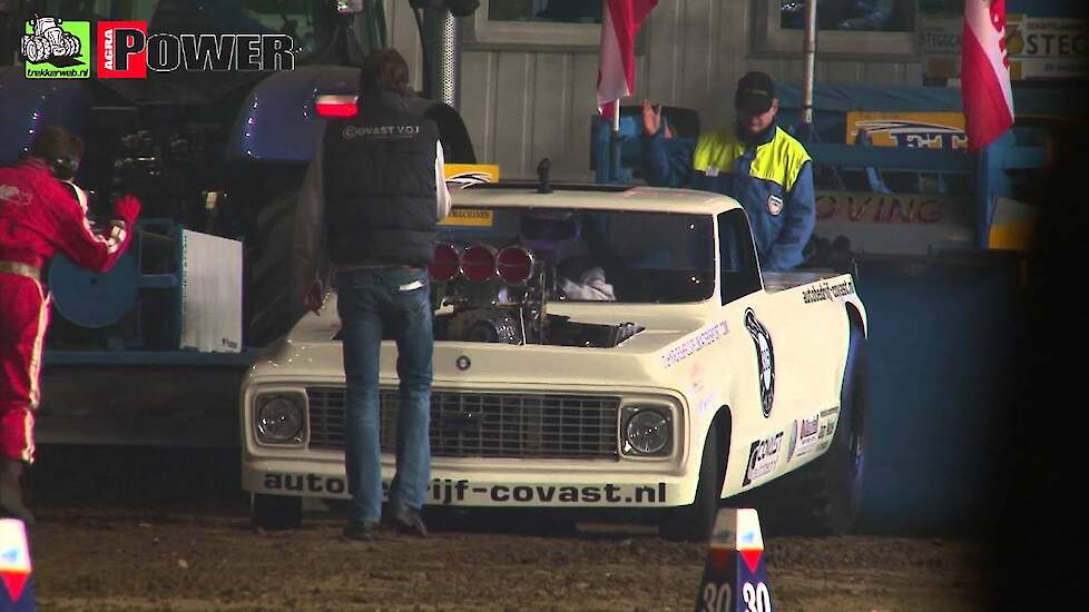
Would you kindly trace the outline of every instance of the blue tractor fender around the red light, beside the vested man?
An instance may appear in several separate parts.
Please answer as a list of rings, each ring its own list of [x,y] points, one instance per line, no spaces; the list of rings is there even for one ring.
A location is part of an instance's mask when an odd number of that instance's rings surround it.
[[[351,67],[304,66],[261,81],[235,119],[225,161],[310,162],[325,128],[316,96],[357,93],[359,73]]]

